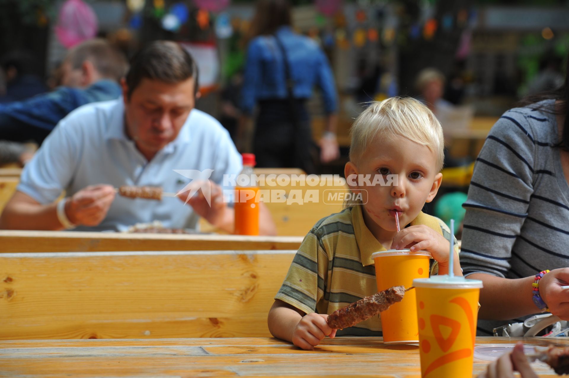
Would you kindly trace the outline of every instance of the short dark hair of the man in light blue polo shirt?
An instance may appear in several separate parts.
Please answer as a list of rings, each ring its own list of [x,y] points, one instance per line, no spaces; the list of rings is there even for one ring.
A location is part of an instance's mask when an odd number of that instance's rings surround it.
[[[194,93],[198,89],[197,65],[192,56],[174,41],[154,41],[134,55],[126,74],[128,97],[143,78],[170,84],[193,78]]]

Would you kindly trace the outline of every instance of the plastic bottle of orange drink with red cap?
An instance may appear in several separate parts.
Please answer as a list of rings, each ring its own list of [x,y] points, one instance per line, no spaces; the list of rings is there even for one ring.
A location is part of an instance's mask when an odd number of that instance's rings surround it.
[[[235,187],[235,234],[236,235],[259,235],[259,202],[257,192],[259,186],[254,180],[253,167],[255,166],[255,155],[244,153],[243,170],[238,176]],[[240,186],[240,177],[248,176],[248,185]],[[247,181],[247,180],[245,180]]]

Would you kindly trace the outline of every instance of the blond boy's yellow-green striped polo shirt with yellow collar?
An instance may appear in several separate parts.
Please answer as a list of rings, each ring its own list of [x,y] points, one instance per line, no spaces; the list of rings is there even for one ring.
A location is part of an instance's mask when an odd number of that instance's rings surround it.
[[[450,230],[439,218],[420,213],[410,226],[426,225],[448,239]],[[455,244],[456,245],[456,244]],[[377,293],[373,252],[385,251],[366,227],[361,205],[321,219],[302,244],[275,299],[304,313],[331,314]],[[381,336],[379,315],[337,335]]]

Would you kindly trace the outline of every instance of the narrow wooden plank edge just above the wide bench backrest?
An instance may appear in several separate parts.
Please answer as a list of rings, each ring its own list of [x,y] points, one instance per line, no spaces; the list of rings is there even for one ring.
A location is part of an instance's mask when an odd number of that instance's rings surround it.
[[[297,250],[301,236],[0,230],[0,253]]]

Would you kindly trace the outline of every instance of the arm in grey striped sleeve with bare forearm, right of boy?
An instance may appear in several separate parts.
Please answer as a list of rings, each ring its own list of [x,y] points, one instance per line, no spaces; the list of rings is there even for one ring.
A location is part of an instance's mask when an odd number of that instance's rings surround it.
[[[463,205],[460,260],[465,276],[483,280],[482,318],[512,319],[539,311],[531,301],[533,277],[505,278],[533,193],[531,135],[531,125],[518,113],[507,112],[498,120],[477,159]]]

